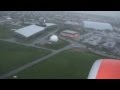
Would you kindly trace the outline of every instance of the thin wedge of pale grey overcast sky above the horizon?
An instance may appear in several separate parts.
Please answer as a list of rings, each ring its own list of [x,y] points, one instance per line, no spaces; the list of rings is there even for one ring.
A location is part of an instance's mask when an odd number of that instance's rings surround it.
[[[120,18],[120,11],[76,11],[76,12],[105,15],[105,16],[119,17]]]

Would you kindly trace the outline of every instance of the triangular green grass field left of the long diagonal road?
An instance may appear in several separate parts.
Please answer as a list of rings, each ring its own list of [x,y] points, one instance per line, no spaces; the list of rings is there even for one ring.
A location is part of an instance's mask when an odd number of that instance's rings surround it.
[[[48,53],[50,51],[0,41],[0,75]]]

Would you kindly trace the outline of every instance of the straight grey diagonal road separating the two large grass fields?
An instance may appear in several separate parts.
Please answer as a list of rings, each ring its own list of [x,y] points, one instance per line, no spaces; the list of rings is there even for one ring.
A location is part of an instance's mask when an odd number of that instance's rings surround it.
[[[64,48],[62,48],[62,49],[60,49],[60,50],[57,50],[57,51],[55,51],[55,52],[53,52],[53,53],[51,53],[51,54],[49,54],[49,55],[47,55],[47,56],[44,56],[43,58],[34,60],[34,61],[32,61],[32,62],[30,62],[30,63],[28,63],[28,64],[25,64],[25,65],[23,65],[23,66],[15,69],[15,70],[13,70],[13,71],[10,71],[9,73],[4,74],[3,76],[0,76],[0,79],[5,79],[5,78],[7,78],[7,77],[9,77],[9,76],[12,76],[12,75],[14,75],[14,74],[16,74],[16,73],[18,73],[18,72],[21,72],[21,71],[23,71],[23,70],[25,70],[25,69],[27,69],[27,68],[35,65],[35,64],[40,63],[40,62],[43,61],[43,60],[46,60],[47,58],[50,58],[51,56],[53,56],[53,55],[55,55],[55,54],[58,54],[58,53],[60,53],[60,52],[62,52],[62,51],[64,51],[64,50],[67,50],[67,49],[70,49],[70,48],[72,48],[72,46],[71,46],[71,45],[68,45],[68,46],[66,46],[66,47],[64,47]]]

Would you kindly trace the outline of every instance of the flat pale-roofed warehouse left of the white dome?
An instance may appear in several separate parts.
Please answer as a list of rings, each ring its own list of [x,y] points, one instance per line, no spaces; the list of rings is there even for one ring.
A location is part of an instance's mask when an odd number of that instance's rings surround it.
[[[30,25],[30,26],[18,29],[14,32],[15,32],[15,36],[17,37],[30,38],[44,30],[45,30],[45,27]]]

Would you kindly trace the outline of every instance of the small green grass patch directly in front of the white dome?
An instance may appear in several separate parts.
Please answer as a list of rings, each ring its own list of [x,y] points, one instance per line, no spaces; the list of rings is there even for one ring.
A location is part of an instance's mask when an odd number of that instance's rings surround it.
[[[53,42],[52,44],[44,44],[44,45],[40,45],[40,44],[36,44],[37,46],[42,46],[42,47],[45,47],[45,48],[49,48],[49,49],[60,49],[60,48],[63,48],[65,46],[67,46],[69,44],[69,42],[65,41],[65,40],[62,40],[62,39],[59,39],[58,42]]]

